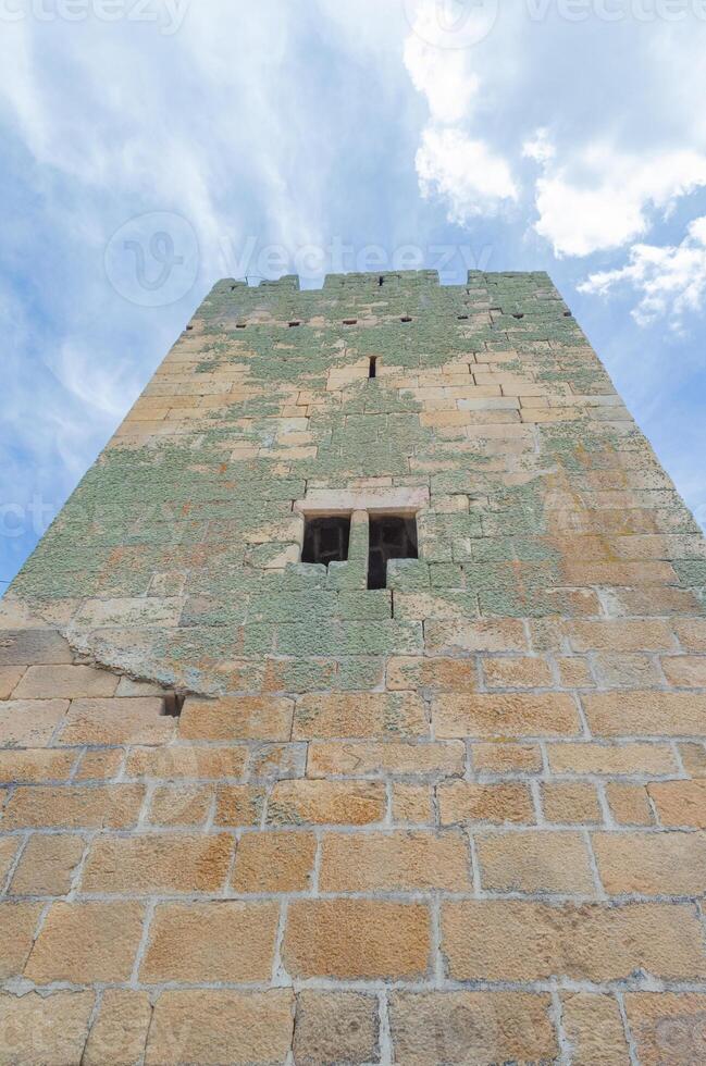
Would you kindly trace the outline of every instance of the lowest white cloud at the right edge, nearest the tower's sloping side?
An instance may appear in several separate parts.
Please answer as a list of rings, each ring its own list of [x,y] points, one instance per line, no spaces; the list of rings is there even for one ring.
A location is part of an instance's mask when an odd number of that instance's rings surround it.
[[[632,312],[640,325],[668,317],[681,330],[684,317],[706,301],[706,215],[691,223],[680,245],[635,245],[626,266],[591,274],[579,290],[606,296],[621,285],[640,294]]]

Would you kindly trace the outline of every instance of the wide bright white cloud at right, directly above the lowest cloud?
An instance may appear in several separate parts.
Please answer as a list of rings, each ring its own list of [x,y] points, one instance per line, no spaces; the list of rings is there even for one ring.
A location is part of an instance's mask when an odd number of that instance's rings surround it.
[[[706,154],[693,150],[629,156],[594,145],[572,164],[547,166],[536,184],[536,232],[556,256],[590,256],[644,236],[652,212],[706,186]]]

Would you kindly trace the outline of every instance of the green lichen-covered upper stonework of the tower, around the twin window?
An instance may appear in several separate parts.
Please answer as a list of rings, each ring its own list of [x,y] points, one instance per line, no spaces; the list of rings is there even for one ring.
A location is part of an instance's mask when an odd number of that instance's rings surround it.
[[[420,485],[413,594],[351,599],[364,575],[297,566],[308,489]],[[224,658],[317,656],[345,685],[350,658],[422,650],[425,618],[600,616],[607,588],[619,616],[631,533],[674,562],[642,595],[698,611],[698,530],[546,275],[226,280],[9,598],[170,684],[226,692]]]

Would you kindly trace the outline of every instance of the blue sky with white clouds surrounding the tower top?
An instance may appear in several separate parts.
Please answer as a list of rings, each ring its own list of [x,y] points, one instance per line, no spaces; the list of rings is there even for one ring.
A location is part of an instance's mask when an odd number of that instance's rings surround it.
[[[704,54],[706,0],[0,0],[0,579],[231,275],[548,270],[706,524]]]

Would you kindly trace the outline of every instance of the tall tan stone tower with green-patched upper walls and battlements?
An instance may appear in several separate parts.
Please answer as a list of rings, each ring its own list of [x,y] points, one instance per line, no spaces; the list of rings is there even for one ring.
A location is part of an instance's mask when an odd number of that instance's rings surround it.
[[[220,282],[0,605],[0,1062],[703,1062],[704,586],[545,274]]]

